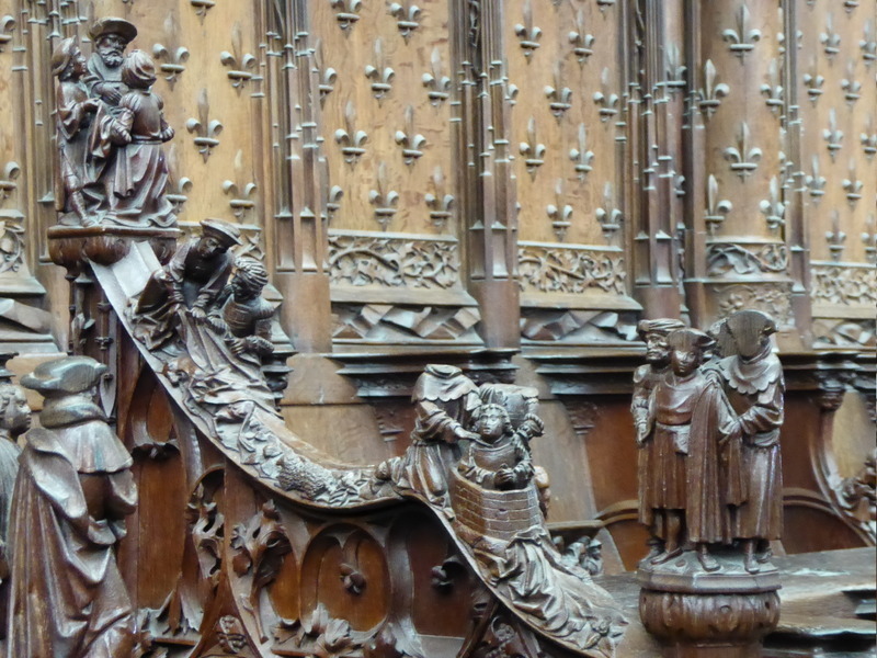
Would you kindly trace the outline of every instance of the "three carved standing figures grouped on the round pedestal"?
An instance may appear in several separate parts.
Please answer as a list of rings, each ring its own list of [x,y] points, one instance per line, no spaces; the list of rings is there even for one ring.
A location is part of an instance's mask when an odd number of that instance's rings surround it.
[[[741,310],[709,334],[670,319],[642,320],[648,364],[635,373],[640,521],[651,535],[647,568],[696,551],[742,551],[759,572],[783,530],[779,427],[783,368],[774,320]],[[711,359],[710,359],[711,358]]]

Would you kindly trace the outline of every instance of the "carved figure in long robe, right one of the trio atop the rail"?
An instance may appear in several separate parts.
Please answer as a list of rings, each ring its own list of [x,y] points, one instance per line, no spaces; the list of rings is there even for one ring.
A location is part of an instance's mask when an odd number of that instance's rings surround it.
[[[117,111],[99,118],[91,157],[105,161],[98,211],[106,222],[132,226],[172,226],[173,205],[166,196],[168,162],[162,144],[173,138],[164,121],[161,98],[151,91],[156,66],[143,50],[134,50],[122,65],[126,91]]]

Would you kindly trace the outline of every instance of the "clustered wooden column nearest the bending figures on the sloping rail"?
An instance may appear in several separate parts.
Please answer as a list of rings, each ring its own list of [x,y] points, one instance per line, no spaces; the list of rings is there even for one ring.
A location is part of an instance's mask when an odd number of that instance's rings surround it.
[[[275,185],[275,281],[284,304],[283,328],[299,352],[331,350],[329,276],[326,273],[326,215],[319,146],[320,98],[315,46],[306,3],[286,0],[273,21],[277,41],[270,65],[272,125],[280,152],[272,163]],[[270,37],[269,37],[270,38]],[[303,311],[307,309],[307,311]]]

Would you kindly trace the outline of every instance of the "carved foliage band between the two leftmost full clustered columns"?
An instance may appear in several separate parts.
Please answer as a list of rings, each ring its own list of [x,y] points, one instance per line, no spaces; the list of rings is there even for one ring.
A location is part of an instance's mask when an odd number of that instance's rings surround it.
[[[459,285],[459,269],[454,238],[329,232],[332,285],[448,290]]]

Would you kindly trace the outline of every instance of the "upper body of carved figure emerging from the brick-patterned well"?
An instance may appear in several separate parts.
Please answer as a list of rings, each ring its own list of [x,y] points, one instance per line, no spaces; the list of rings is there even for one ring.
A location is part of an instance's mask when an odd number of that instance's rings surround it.
[[[500,405],[485,405],[476,422],[478,439],[471,441],[457,466],[466,479],[486,489],[523,489],[533,478],[533,460],[513,431],[509,412]]]

